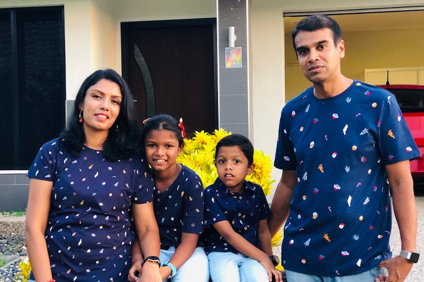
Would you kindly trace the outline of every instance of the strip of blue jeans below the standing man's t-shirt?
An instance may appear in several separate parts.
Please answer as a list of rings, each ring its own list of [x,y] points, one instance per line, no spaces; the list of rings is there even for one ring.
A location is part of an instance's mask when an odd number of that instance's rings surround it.
[[[387,275],[384,267],[374,267],[363,273],[348,276],[314,276],[285,269],[287,282],[374,282],[379,274]]]

